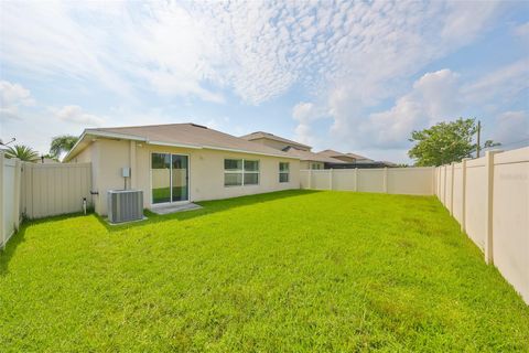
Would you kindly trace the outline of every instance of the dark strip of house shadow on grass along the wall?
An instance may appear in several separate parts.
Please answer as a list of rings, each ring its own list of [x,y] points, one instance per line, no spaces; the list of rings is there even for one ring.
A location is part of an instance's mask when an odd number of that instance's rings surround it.
[[[164,222],[169,220],[179,220],[179,221],[186,221],[195,217],[205,216],[208,214],[223,212],[227,210],[231,210],[235,207],[248,206],[257,203],[270,202],[280,199],[287,197],[295,197],[295,196],[303,196],[313,193],[317,193],[320,191],[315,190],[285,190],[285,191],[277,191],[263,194],[253,194],[247,196],[239,196],[239,197],[231,197],[231,199],[223,199],[223,200],[213,200],[213,201],[201,201],[195,202],[196,204],[201,205],[203,208],[192,210],[192,211],[183,211],[183,212],[175,212],[170,214],[156,214],[149,210],[144,211],[144,215],[148,220],[125,223],[125,224],[109,224],[106,218],[97,215],[97,220],[99,223],[108,229],[108,232],[118,232],[123,231],[131,227],[143,226],[145,224],[152,224],[158,222]]]

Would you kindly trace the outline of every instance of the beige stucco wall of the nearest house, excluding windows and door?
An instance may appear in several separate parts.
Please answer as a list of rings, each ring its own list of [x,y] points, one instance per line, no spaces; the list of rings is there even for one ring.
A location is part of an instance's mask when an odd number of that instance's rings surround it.
[[[98,139],[85,151],[90,156],[95,172],[94,189],[99,192],[94,197],[96,212],[107,213],[107,191],[125,185],[121,168],[131,168],[131,180],[127,185],[143,191],[143,204],[151,206],[151,159],[150,153],[187,154],[190,157],[190,200],[204,201],[227,199],[248,194],[300,188],[300,161],[279,157],[228,152],[208,149],[184,149],[151,146],[126,140]],[[132,156],[132,159],[131,159]],[[258,185],[224,186],[224,160],[259,160],[260,180]],[[83,157],[83,160],[85,157]],[[279,182],[279,162],[290,163],[290,181]],[[156,178],[156,176],[154,176]]]

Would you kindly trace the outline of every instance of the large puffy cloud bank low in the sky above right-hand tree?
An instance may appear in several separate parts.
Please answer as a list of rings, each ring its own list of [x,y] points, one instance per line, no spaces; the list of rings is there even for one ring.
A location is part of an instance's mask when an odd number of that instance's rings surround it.
[[[403,149],[412,130],[422,129],[442,120],[466,116],[468,111],[478,114],[488,126],[496,128],[499,141],[516,140],[527,135],[527,116],[509,113],[509,121],[499,116],[503,106],[520,97],[529,88],[529,66],[527,61],[518,61],[499,67],[474,82],[465,82],[460,74],[450,69],[427,73],[412,85],[410,92],[401,95],[395,104],[382,111],[365,114],[361,99],[344,88],[336,88],[328,97],[328,113],[334,119],[331,136],[334,143],[343,149]],[[493,104],[494,103],[494,104]],[[505,111],[505,110],[504,110]],[[522,119],[522,117],[523,119]],[[525,121],[525,122],[523,122]],[[516,127],[514,127],[515,122]],[[526,125],[521,125],[521,124]],[[303,129],[311,131],[310,121]],[[523,131],[523,132],[520,132]]]

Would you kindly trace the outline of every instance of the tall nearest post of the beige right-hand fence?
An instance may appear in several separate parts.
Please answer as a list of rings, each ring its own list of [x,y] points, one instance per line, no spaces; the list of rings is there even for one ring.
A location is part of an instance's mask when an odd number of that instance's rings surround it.
[[[485,261],[487,264],[494,263],[494,234],[493,234],[493,202],[494,202],[494,154],[503,151],[486,151],[485,152],[485,173],[486,173],[486,194],[485,194]]]

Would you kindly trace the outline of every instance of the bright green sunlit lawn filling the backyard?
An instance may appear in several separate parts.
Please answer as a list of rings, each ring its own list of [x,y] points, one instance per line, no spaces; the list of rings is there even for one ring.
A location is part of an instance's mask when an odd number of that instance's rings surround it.
[[[433,197],[287,191],[28,223],[2,352],[529,351],[529,308]]]

